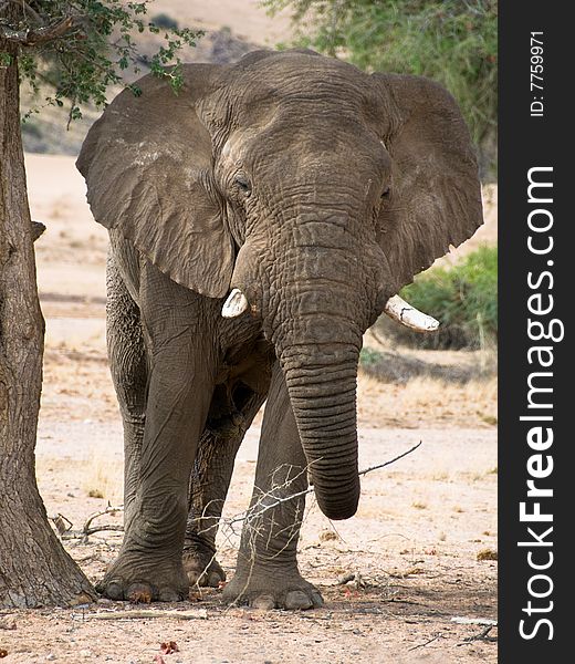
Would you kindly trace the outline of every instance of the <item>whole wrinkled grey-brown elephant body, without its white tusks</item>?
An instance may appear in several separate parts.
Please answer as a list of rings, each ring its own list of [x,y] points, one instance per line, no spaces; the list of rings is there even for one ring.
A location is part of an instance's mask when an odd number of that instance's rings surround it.
[[[146,76],[77,166],[109,229],[108,350],[125,429],[125,537],[98,589],[172,601],[213,558],[236,452],[268,397],[252,505],[302,491],[354,515],[362,334],[387,299],[481,224],[450,95],[312,52]],[[250,309],[221,317],[231,288]],[[309,469],[309,470],[306,470]],[[303,497],[244,528],[228,601],[305,609]]]

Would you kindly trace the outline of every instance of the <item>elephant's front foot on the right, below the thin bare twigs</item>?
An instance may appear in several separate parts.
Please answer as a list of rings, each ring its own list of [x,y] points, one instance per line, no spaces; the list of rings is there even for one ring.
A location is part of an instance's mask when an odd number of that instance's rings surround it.
[[[253,609],[305,610],[323,606],[320,591],[297,571],[271,573],[253,570],[239,573],[223,589],[222,599],[228,603],[248,604]]]

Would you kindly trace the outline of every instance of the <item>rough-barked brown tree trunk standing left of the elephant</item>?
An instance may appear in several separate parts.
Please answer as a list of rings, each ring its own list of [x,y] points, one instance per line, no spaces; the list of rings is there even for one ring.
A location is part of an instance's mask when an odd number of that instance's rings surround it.
[[[8,9],[10,11],[10,9]],[[35,480],[44,321],[20,134],[15,50],[0,39],[0,608],[94,596],[52,530]]]

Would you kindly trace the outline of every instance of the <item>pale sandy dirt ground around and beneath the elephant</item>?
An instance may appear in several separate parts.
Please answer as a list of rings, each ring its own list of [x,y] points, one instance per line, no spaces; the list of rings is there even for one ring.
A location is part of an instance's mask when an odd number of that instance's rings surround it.
[[[79,530],[122,499],[122,430],[105,356],[106,234],[91,219],[72,158],[29,155],[27,166],[33,218],[48,226],[36,242],[46,319],[38,479],[49,516]],[[496,190],[489,197],[488,240]],[[377,346],[369,335],[366,343]],[[485,360],[409,353],[430,365]],[[328,521],[309,499],[300,564],[324,595],[321,610],[227,608],[220,590],[202,590],[190,602],[145,608],[172,611],[167,618],[125,618],[142,606],[106,600],[3,612],[0,651],[7,663],[25,664],[496,662],[495,404],[494,377],[460,385],[432,375],[386,384],[360,376],[360,467],[422,444],[363,478],[359,511],[348,521]],[[258,435],[259,422],[240,449],[219,535],[229,578],[239,542],[229,521],[248,506]],[[95,521],[121,522],[121,513]],[[105,530],[64,543],[95,581],[121,537]],[[195,618],[179,620],[182,611]],[[104,614],[112,619],[96,618]],[[178,651],[163,653],[171,641]]]

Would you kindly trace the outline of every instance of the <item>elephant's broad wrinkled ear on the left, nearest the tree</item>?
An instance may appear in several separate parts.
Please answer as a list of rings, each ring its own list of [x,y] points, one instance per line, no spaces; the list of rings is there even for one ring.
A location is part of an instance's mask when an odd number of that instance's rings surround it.
[[[145,76],[140,96],[124,91],[92,126],[76,162],[96,221],[174,281],[211,298],[226,295],[233,270],[211,137],[198,115],[218,71],[186,65],[178,94],[166,80]]]

